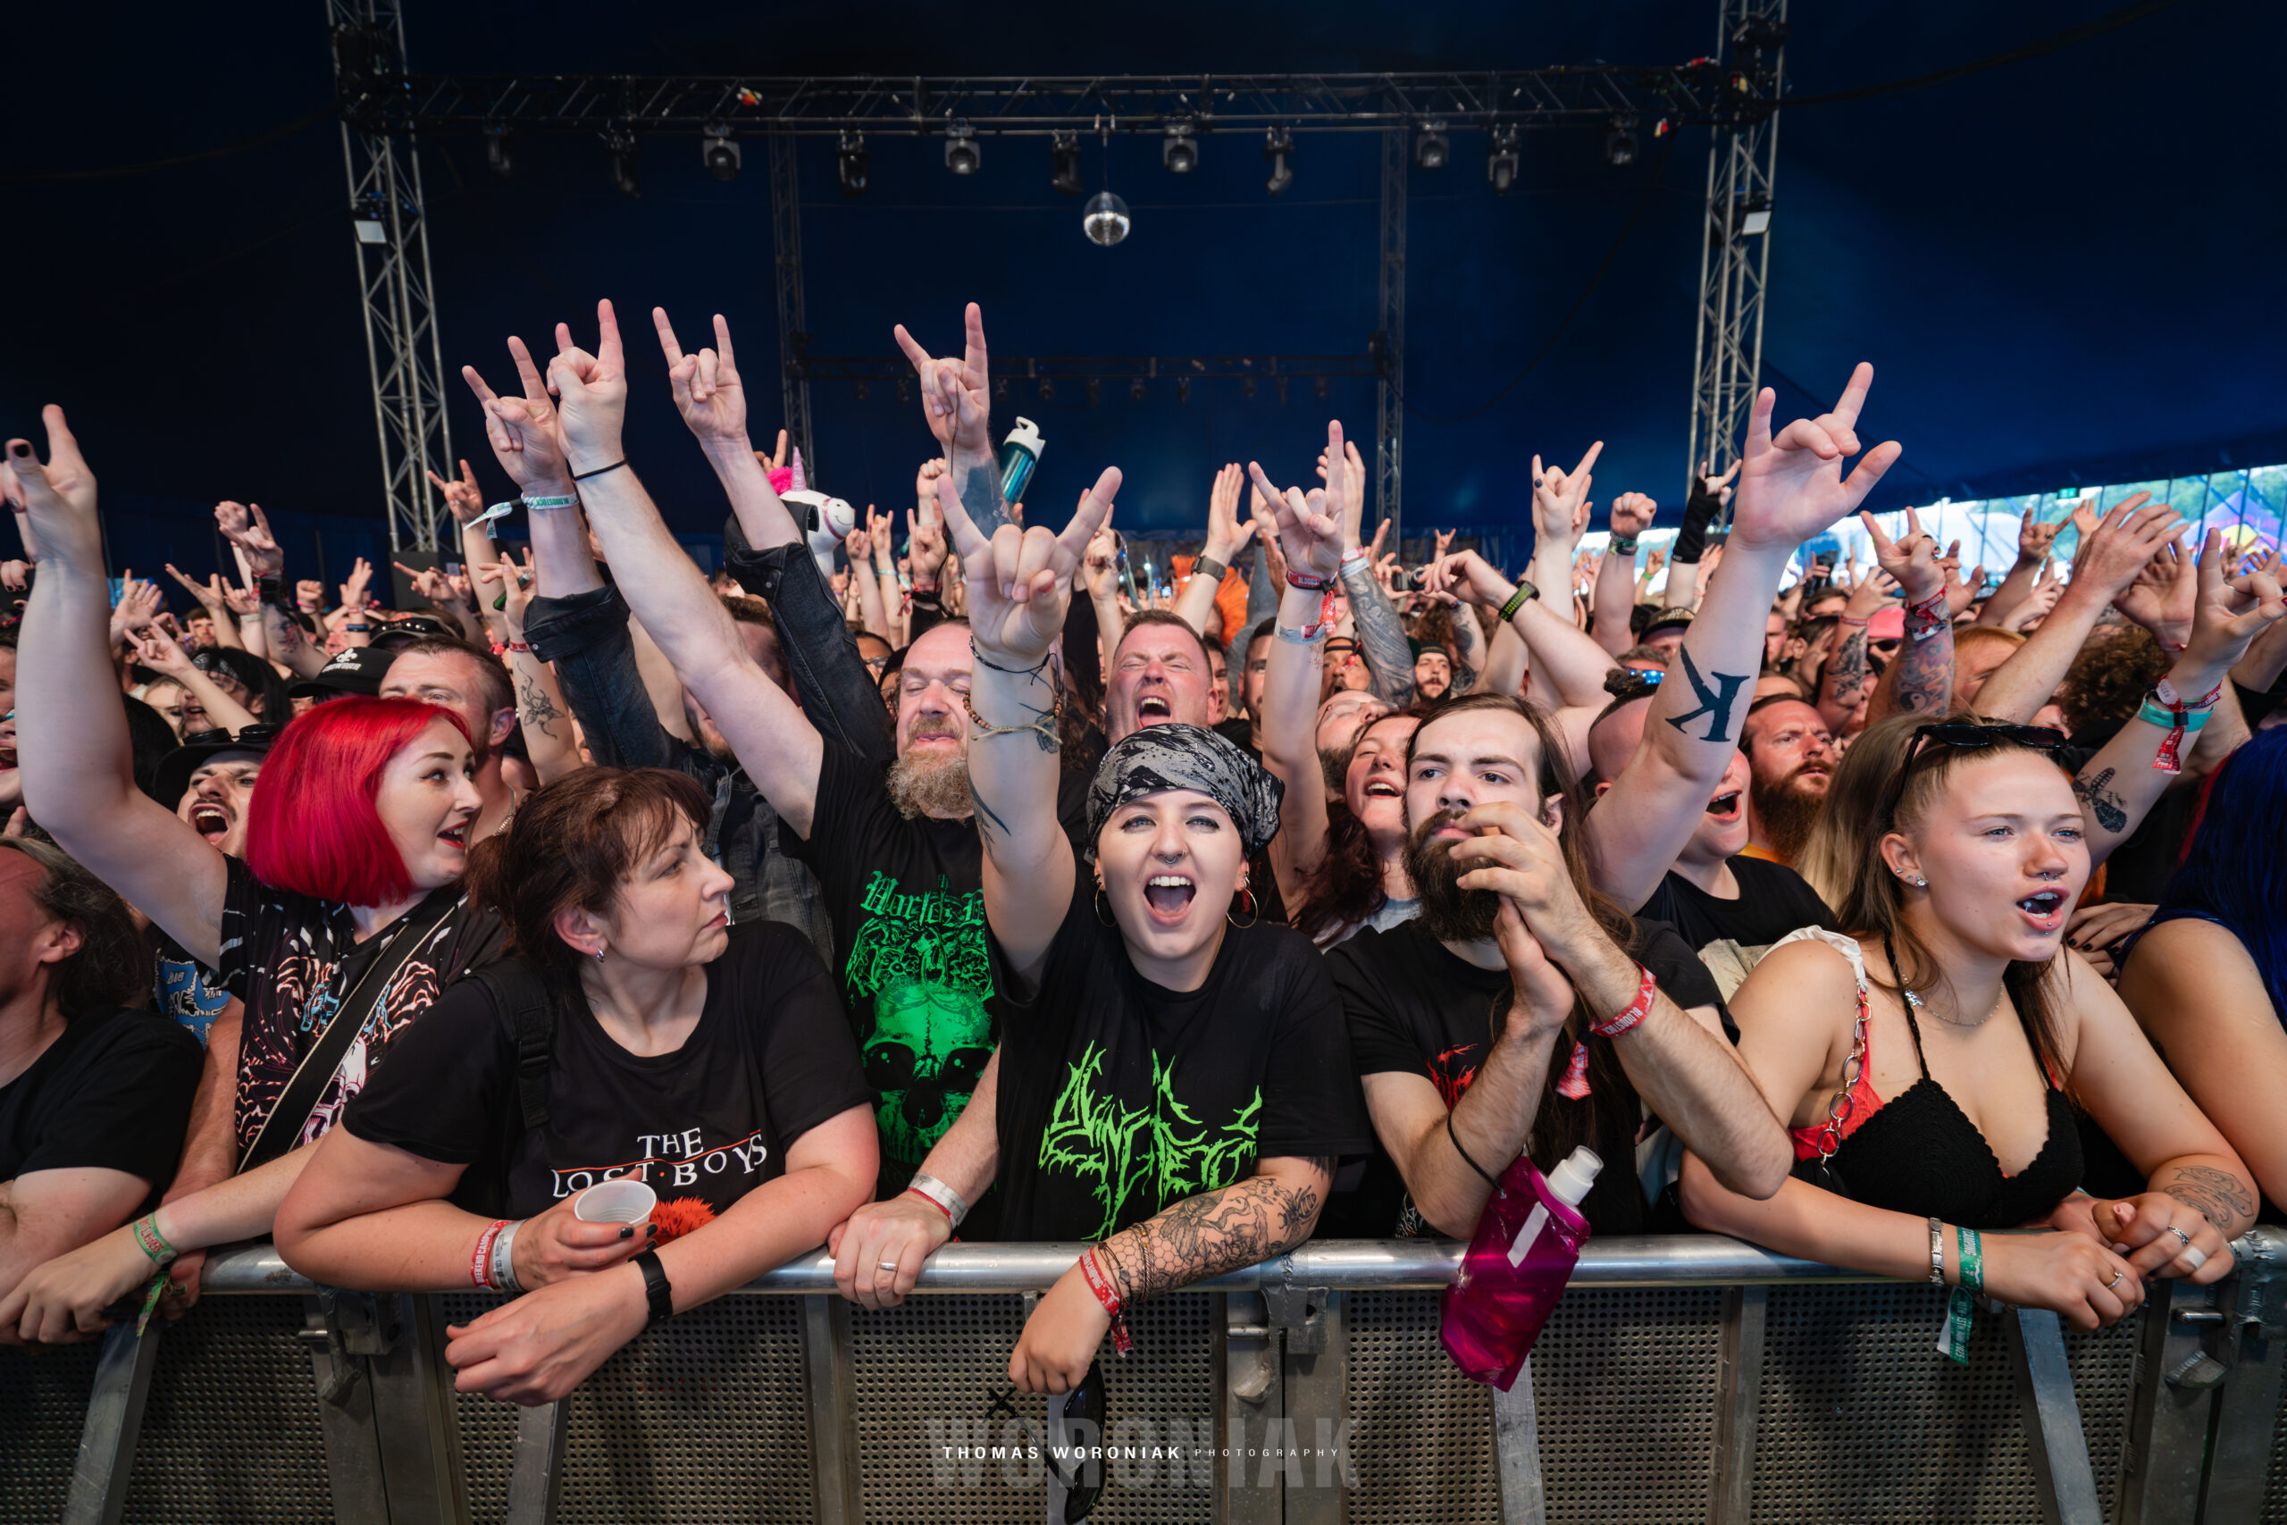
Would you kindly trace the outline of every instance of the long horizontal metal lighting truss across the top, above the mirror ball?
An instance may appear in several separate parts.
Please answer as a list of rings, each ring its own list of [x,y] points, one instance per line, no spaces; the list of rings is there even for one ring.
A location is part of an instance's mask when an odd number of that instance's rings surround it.
[[[341,0],[336,0],[341,2]],[[1734,0],[1736,2],[1736,0]],[[435,75],[393,73],[343,91],[343,117],[384,133],[1050,133],[1265,130],[1379,133],[1443,123],[1672,126],[1752,114],[1752,96],[1711,59],[1425,73],[1203,75]]]

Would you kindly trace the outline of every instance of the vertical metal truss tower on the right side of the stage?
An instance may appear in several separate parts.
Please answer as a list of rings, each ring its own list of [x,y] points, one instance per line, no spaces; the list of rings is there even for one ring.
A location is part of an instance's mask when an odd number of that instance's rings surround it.
[[[1708,213],[1699,249],[1692,428],[1686,473],[1738,460],[1763,364],[1770,187],[1779,167],[1786,0],[1720,0],[1718,57],[1738,78],[1740,112],[1708,144]]]

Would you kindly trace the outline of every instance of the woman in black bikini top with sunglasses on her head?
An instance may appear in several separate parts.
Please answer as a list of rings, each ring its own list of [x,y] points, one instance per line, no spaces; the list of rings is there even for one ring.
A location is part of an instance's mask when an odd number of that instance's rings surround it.
[[[1740,1059],[1800,1164],[1754,1203],[1686,1157],[1697,1225],[2049,1308],[2074,1328],[2125,1317],[2147,1278],[2230,1271],[2228,1241],[2255,1216],[2248,1168],[2111,985],[2063,949],[2088,841],[2061,743],[1976,716],[1894,716],[1850,745],[1843,766],[1887,787],[1843,832],[1841,931],[1784,937],[1731,997]],[[2143,1191],[2079,1191],[2074,1107]],[[1997,1232],[2017,1228],[2063,1232]]]

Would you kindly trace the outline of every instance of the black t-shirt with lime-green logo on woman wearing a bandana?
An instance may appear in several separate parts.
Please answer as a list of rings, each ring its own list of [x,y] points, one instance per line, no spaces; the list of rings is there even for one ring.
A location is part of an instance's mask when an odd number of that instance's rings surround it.
[[[1093,880],[1025,999],[993,942],[1002,1013],[1002,1237],[1105,1239],[1251,1175],[1258,1159],[1372,1150],[1326,960],[1301,933],[1233,926],[1192,992],[1137,974]]]

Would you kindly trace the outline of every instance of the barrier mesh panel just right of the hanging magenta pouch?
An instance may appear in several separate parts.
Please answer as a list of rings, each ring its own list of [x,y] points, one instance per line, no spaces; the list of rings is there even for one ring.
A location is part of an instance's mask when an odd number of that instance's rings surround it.
[[[1551,1520],[1708,1514],[1722,1292],[1578,1290],[1532,1347],[1532,1406]]]

